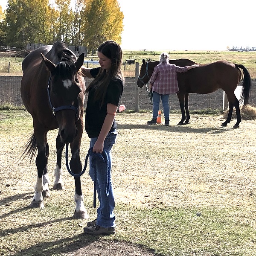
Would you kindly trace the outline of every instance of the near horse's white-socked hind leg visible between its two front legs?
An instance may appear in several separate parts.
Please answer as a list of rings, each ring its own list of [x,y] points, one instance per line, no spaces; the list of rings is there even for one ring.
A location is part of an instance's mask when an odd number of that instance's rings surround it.
[[[56,154],[57,154],[57,163],[56,168],[54,170],[54,183],[53,183],[53,189],[64,189],[63,186],[63,180],[62,180],[62,169],[61,169],[61,157],[62,157],[62,151],[64,148],[64,144],[61,142],[60,135],[58,134],[56,138]]]

